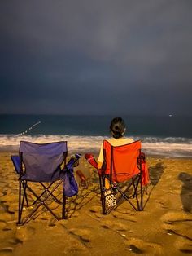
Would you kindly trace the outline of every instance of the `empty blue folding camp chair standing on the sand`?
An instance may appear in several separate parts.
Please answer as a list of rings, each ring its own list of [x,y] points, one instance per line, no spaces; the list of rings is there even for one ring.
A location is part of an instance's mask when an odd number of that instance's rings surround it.
[[[20,141],[19,156],[11,156],[15,171],[19,175],[18,224],[27,223],[41,214],[43,205],[57,220],[67,218],[66,195],[63,182],[65,174],[72,171],[81,154],[66,163],[68,143],[31,143]],[[62,205],[61,217],[55,214],[55,203]],[[22,219],[23,210],[31,206]],[[53,207],[51,205],[54,205]],[[54,209],[53,209],[54,208]],[[45,210],[45,209],[44,209]]]

